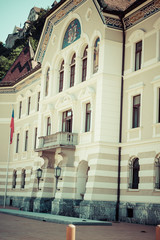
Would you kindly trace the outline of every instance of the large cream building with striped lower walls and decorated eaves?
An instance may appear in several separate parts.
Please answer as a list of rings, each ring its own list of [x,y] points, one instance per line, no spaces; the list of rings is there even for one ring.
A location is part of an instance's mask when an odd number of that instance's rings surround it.
[[[35,55],[41,67],[1,82],[1,204],[159,223],[160,2],[120,2],[56,4]]]

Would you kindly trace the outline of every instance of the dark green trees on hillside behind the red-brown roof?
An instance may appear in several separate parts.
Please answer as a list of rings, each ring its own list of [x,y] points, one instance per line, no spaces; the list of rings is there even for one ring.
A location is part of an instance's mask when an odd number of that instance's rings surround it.
[[[29,41],[33,51],[36,51],[47,11],[49,11],[49,9],[41,9],[38,19],[30,23],[24,38],[17,39],[11,49],[6,48],[3,43],[0,42],[0,81],[4,78],[7,71]]]

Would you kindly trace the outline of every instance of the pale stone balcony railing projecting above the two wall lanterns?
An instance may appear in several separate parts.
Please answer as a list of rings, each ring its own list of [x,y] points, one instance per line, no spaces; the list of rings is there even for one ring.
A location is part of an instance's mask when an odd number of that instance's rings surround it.
[[[58,132],[49,136],[39,137],[39,147],[56,148],[56,146],[75,146],[78,143],[78,134],[69,132]]]

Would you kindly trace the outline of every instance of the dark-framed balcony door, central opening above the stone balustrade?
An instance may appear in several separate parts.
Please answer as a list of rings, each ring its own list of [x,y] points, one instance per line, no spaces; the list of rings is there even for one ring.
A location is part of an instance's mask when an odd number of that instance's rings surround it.
[[[62,132],[72,132],[72,110],[63,112]]]

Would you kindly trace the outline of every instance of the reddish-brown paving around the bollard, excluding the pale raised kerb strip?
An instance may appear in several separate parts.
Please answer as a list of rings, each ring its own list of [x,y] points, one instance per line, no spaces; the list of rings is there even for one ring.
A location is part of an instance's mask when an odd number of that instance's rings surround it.
[[[64,224],[0,213],[0,240],[66,240]],[[76,240],[155,240],[155,226],[113,223],[76,226]]]

